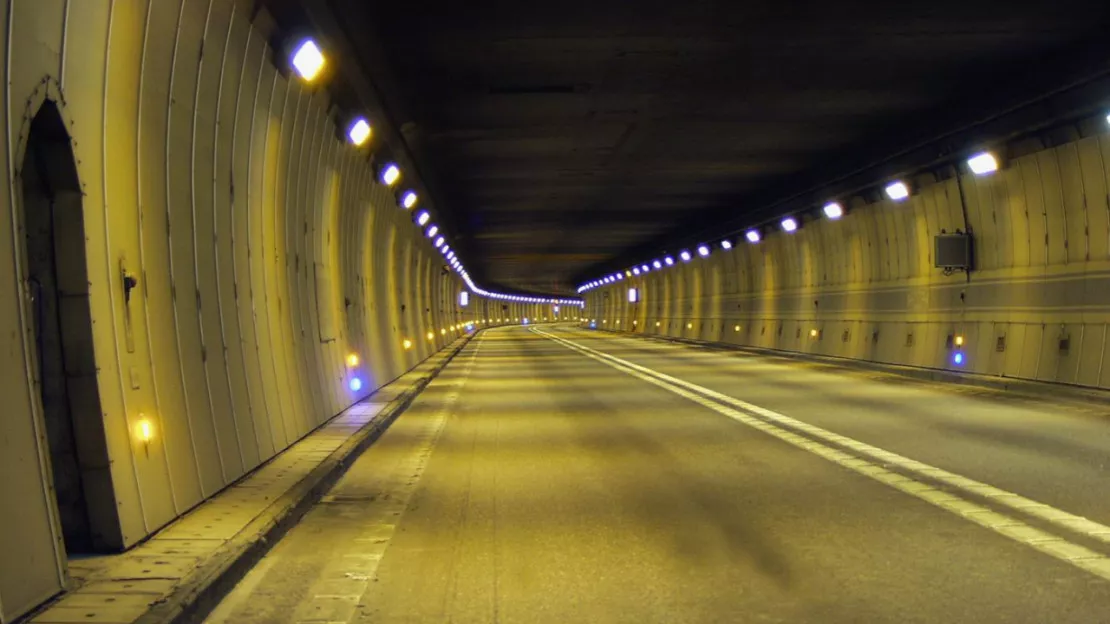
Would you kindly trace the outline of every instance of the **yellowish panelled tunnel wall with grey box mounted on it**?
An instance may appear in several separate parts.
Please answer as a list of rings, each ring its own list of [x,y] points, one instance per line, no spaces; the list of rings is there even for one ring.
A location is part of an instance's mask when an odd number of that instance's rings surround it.
[[[905,202],[858,200],[839,221],[808,218],[794,234],[589,291],[586,316],[599,329],[1110,386],[1110,137],[1099,128],[1010,153],[991,175],[918,179]],[[957,229],[975,234],[977,266],[945,275],[934,235]]]

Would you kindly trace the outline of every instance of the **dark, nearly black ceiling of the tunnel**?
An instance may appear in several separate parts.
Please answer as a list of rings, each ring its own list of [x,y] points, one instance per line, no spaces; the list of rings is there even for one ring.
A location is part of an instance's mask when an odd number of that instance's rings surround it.
[[[1090,47],[1104,38],[1104,4],[332,0],[332,10],[472,273],[554,293],[643,260],[692,224],[743,224],[745,211],[868,148],[945,130],[935,119],[1054,87],[1077,53],[1106,53]]]

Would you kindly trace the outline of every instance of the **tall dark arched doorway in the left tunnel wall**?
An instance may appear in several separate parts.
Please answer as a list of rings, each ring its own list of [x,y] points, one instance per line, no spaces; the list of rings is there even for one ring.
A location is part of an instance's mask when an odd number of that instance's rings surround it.
[[[113,540],[93,519],[114,515],[114,505],[92,349],[81,184],[69,133],[50,100],[31,121],[20,178],[34,374],[58,517],[68,553],[105,550]]]

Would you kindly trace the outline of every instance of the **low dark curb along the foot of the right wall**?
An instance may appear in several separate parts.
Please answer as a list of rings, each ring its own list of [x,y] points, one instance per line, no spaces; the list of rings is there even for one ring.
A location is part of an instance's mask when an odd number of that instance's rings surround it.
[[[882,362],[871,362],[867,360],[855,360],[851,358],[838,358],[836,355],[820,355],[814,353],[801,353],[797,351],[785,351],[777,349],[765,349],[758,346],[744,346],[728,344],[725,342],[714,342],[708,340],[697,340],[690,338],[672,338],[664,335],[638,334],[632,332],[619,332],[609,329],[592,330],[602,331],[613,335],[637,338],[655,342],[670,344],[687,344],[702,349],[713,349],[718,351],[737,351],[740,353],[751,353],[767,358],[780,358],[796,362],[808,362],[828,366],[830,369],[851,369],[857,371],[884,373],[905,379],[924,382],[934,382],[951,385],[962,385],[970,388],[981,388],[1000,392],[1009,392],[1023,397],[1052,401],[1073,401],[1083,403],[1110,403],[1110,391],[1078,386],[1064,383],[1051,383],[1036,380],[1025,380],[1017,378],[992,376],[980,373],[961,373],[958,371],[947,371],[942,369],[929,369],[925,366],[908,366],[902,364],[886,364]]]

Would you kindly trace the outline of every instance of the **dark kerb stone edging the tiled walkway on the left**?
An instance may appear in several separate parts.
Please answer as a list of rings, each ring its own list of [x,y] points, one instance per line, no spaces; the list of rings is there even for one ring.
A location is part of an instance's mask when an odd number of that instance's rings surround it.
[[[307,476],[276,499],[246,527],[224,544],[220,552],[199,565],[191,577],[179,584],[169,597],[138,620],[140,624],[182,624],[201,622],[281,537],[309,512],[343,476],[351,464],[389,429],[420,393],[477,335],[467,334],[442,361],[403,391],[382,412],[352,434]]]

